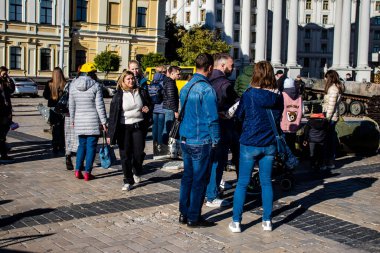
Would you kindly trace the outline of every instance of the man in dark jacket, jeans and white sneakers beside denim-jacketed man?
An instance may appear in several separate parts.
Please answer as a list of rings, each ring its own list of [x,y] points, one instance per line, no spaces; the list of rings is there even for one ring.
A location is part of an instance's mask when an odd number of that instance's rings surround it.
[[[218,198],[218,189],[223,177],[223,170],[228,161],[228,150],[231,149],[235,158],[239,157],[239,136],[234,128],[233,119],[227,119],[223,115],[228,109],[239,101],[232,83],[228,80],[234,68],[234,61],[229,54],[221,53],[214,56],[214,70],[210,82],[216,91],[218,99],[218,113],[220,124],[220,143],[216,150],[216,160],[213,161],[210,181],[206,191],[206,206],[221,207],[230,203]],[[238,164],[235,164],[239,166]]]

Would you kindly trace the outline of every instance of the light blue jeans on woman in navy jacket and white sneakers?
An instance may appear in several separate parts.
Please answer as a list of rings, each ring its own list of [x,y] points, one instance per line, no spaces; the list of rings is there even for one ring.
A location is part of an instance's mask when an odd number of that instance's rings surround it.
[[[232,220],[241,222],[247,186],[252,176],[252,169],[259,163],[261,197],[263,202],[263,221],[270,221],[273,205],[272,165],[276,154],[276,146],[253,147],[240,144],[239,179],[234,194]]]

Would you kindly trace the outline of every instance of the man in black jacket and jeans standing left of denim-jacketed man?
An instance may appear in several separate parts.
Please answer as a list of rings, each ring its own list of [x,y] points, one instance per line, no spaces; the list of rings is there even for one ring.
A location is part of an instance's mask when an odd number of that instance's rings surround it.
[[[167,78],[164,80],[163,108],[165,112],[165,126],[163,131],[163,143],[168,145],[169,132],[173,126],[174,118],[178,118],[179,96],[175,80],[180,77],[181,69],[177,66],[168,68]]]

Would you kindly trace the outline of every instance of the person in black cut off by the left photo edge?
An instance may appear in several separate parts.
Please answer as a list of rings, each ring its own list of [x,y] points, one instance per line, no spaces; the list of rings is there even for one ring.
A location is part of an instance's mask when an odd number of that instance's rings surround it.
[[[15,91],[15,84],[8,76],[8,69],[0,67],[0,161],[12,160],[8,156],[5,140],[12,124],[11,94]]]

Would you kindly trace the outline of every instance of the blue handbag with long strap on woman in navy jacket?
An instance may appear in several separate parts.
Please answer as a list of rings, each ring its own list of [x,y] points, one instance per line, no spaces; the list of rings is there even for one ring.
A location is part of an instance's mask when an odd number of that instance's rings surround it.
[[[266,111],[272,130],[274,132],[274,135],[276,136],[277,154],[280,157],[280,159],[285,163],[288,169],[295,169],[299,164],[298,158],[292,153],[288,144],[286,144],[285,136],[282,133],[282,131],[280,134],[277,130],[272,110],[266,109]]]

